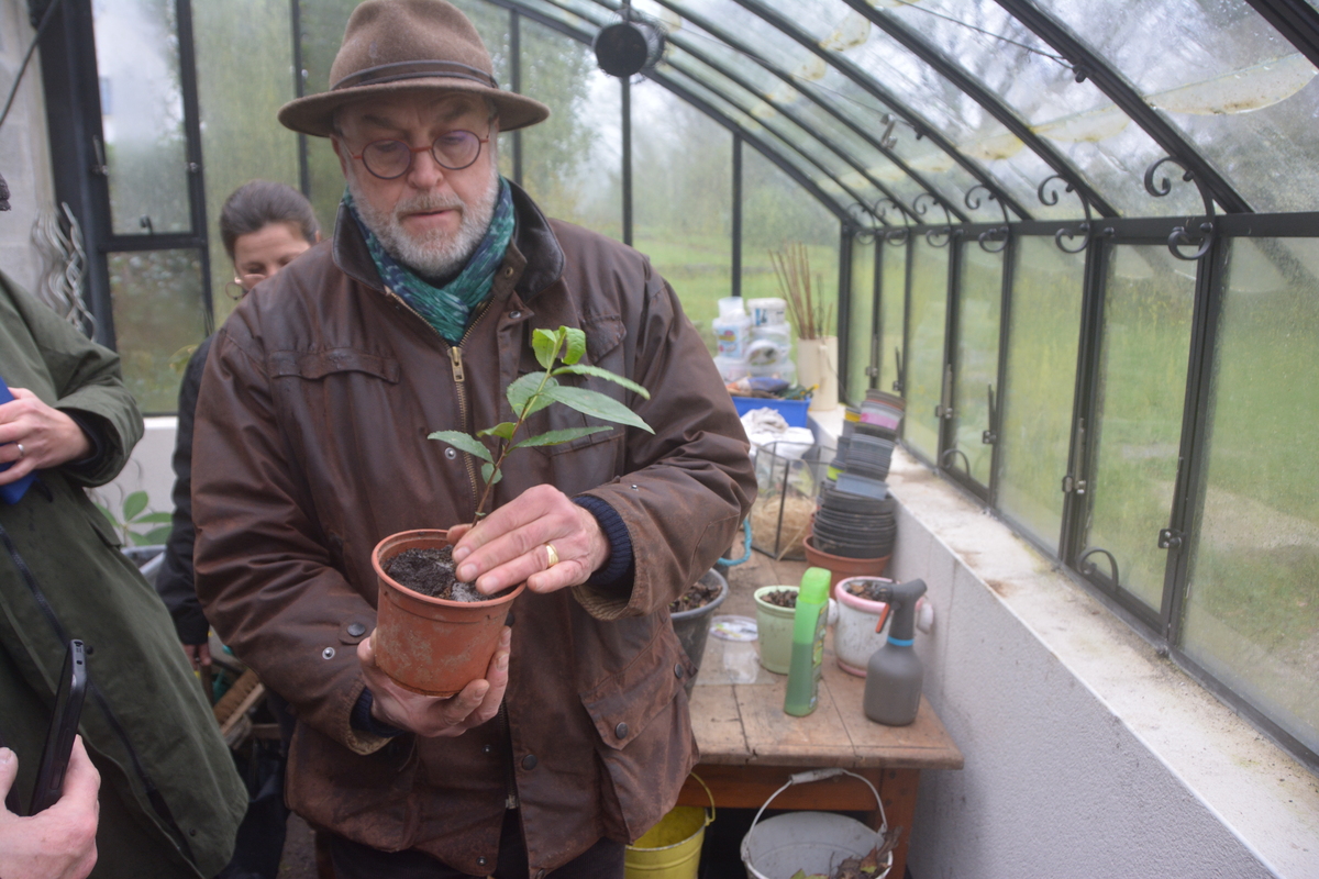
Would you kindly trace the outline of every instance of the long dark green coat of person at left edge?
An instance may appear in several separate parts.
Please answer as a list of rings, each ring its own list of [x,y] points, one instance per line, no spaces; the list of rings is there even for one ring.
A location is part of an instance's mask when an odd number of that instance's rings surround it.
[[[94,426],[91,469],[41,470],[0,502],[0,737],[26,805],[65,643],[86,643],[80,731],[100,770],[92,876],[212,876],[230,859],[247,791],[160,598],[83,492],[113,478],[142,435],[119,357],[0,274],[0,376]]]

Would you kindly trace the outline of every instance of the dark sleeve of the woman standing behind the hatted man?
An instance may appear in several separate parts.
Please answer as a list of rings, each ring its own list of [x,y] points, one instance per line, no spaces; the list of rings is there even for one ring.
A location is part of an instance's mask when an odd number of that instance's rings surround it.
[[[178,435],[174,440],[174,517],[165,561],[156,577],[156,592],[174,619],[178,639],[185,644],[204,644],[210,631],[202,602],[197,598],[193,577],[193,423],[197,419],[197,395],[202,389],[202,369],[211,351],[207,339],[193,353],[178,389]]]

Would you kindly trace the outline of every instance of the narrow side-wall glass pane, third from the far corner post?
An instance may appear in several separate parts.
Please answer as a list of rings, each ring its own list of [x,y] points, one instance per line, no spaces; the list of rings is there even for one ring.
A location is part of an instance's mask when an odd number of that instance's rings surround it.
[[[939,460],[935,412],[943,403],[943,337],[948,315],[948,248],[915,236],[911,254],[911,344],[906,353],[906,418],[902,439],[929,461]]]

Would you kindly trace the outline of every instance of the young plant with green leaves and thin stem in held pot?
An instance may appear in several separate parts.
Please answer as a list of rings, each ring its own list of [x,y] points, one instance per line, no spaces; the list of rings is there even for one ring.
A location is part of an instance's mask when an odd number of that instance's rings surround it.
[[[568,409],[575,409],[584,415],[590,415],[604,422],[612,422],[615,424],[624,424],[628,427],[640,427],[644,431],[654,434],[654,430],[652,430],[640,415],[612,397],[601,394],[598,390],[559,383],[558,380],[562,376],[594,376],[596,378],[612,381],[636,394],[640,394],[645,399],[650,399],[650,393],[634,381],[617,376],[608,369],[579,362],[582,360],[582,354],[586,353],[584,332],[571,327],[559,327],[553,332],[549,329],[537,329],[532,335],[532,349],[536,352],[537,362],[541,364],[541,372],[528,373],[526,376],[520,377],[509,385],[505,391],[508,405],[517,415],[516,422],[503,422],[495,427],[479,430],[475,436],[464,434],[463,431],[435,431],[429,436],[429,439],[447,443],[458,451],[467,452],[468,455],[483,461],[483,490],[480,501],[476,503],[476,518],[472,521],[474,526],[480,522],[484,515],[483,510],[485,509],[485,502],[489,499],[491,489],[493,489],[500,478],[503,478],[501,468],[504,467],[504,460],[508,457],[509,452],[518,448],[532,448],[538,445],[561,445],[583,436],[590,436],[591,434],[613,430],[612,427],[603,424],[595,427],[568,427],[557,431],[546,431],[525,439],[517,439],[517,435],[526,423],[526,419],[542,409],[553,406],[554,403],[562,403]],[[481,441],[481,438],[485,436],[496,438],[496,452],[492,453],[491,449],[487,448],[485,443]]]

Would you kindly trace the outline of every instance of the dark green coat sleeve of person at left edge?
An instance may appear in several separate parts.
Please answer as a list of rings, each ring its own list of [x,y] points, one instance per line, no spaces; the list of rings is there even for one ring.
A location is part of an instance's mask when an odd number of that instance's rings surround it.
[[[65,476],[87,486],[109,482],[128,463],[128,455],[142,438],[142,415],[133,395],[124,387],[119,354],[83,336],[54,311],[0,274],[18,314],[37,341],[50,372],[57,399],[45,401],[61,411],[84,414],[80,423],[95,424],[94,445],[102,453],[92,467],[65,468]]]

